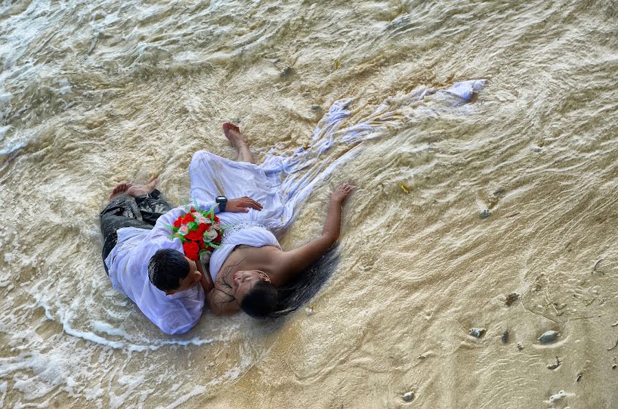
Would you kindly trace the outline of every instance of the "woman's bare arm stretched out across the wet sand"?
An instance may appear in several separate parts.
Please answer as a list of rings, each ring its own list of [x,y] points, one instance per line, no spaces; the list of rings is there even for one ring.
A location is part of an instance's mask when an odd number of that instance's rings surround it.
[[[354,190],[354,185],[344,183],[332,192],[328,204],[328,213],[320,237],[313,239],[304,246],[287,251],[284,253],[283,257],[277,259],[276,268],[282,272],[279,277],[281,277],[283,282],[275,283],[275,285],[284,285],[296,274],[309,268],[318,257],[326,253],[326,251],[336,243],[341,231],[341,210],[343,203],[345,199],[347,199],[347,196],[350,196],[352,190]]]

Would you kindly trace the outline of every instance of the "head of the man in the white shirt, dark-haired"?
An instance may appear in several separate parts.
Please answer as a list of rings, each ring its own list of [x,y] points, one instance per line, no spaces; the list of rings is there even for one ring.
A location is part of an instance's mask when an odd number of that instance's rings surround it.
[[[189,290],[200,282],[201,277],[195,261],[171,248],[157,250],[148,261],[148,279],[159,290],[165,291],[165,295]]]

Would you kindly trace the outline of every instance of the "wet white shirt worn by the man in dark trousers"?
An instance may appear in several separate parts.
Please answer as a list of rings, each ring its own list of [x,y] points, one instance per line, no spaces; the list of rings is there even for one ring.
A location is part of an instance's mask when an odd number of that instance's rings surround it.
[[[200,210],[211,207],[198,205]],[[194,327],[202,316],[205,301],[201,285],[165,295],[148,279],[148,261],[157,250],[172,248],[184,254],[181,240],[171,239],[172,231],[167,227],[184,213],[184,206],[168,211],[161,215],[152,230],[118,229],[117,244],[104,261],[113,287],[126,294],[166,334],[183,334]]]

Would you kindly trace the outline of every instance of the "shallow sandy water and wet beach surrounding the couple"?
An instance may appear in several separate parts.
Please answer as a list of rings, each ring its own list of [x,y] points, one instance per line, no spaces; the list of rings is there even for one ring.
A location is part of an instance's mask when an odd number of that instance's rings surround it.
[[[0,406],[615,407],[616,10],[3,1]],[[111,288],[109,191],[159,174],[179,203],[192,152],[233,157],[222,121],[263,159],[307,145],[340,98],[353,126],[389,96],[476,78],[474,104],[391,105],[375,139],[325,156],[355,152],[284,248],[319,234],[332,187],[360,188],[312,314],[207,313],[165,336]]]

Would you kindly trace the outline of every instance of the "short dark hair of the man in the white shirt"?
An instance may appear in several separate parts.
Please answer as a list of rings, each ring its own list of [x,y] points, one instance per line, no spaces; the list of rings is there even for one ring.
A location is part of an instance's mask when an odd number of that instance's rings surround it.
[[[171,248],[157,250],[148,261],[148,278],[161,291],[179,288],[181,279],[187,277],[190,271],[191,266],[183,253]]]

